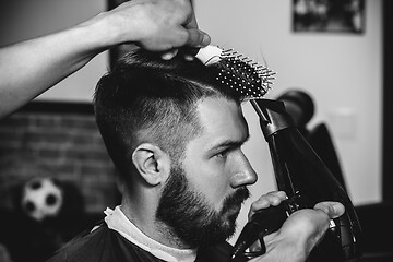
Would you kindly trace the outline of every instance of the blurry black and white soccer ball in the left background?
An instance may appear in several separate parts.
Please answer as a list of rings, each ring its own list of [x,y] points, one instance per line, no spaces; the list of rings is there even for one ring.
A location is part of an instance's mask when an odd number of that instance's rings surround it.
[[[51,178],[33,178],[23,187],[22,209],[35,221],[43,222],[57,216],[62,204],[62,189]]]

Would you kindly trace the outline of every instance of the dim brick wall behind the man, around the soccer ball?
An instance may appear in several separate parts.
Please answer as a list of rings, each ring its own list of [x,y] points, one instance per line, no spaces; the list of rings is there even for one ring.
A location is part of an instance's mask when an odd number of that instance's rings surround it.
[[[115,206],[116,169],[88,104],[32,103],[0,122],[0,206],[35,176],[73,183],[87,212]]]

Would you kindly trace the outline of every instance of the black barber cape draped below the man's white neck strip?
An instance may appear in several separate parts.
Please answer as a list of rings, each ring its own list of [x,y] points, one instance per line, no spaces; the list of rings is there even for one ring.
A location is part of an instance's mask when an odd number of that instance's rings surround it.
[[[195,262],[227,262],[231,246],[201,248]],[[157,262],[163,261],[109,229],[106,223],[81,234],[58,250],[47,262]]]

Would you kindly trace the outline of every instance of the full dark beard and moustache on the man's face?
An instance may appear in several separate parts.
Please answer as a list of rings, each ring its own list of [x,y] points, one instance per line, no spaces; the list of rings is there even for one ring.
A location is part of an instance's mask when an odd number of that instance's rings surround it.
[[[222,210],[217,212],[202,193],[190,188],[181,167],[172,168],[156,219],[191,248],[215,245],[234,235],[240,206],[249,195],[246,187],[239,188],[224,200]]]

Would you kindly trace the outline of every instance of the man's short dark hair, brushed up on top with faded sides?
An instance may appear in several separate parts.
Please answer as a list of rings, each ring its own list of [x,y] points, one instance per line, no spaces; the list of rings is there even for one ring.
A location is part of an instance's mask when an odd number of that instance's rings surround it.
[[[202,130],[195,110],[200,99],[224,97],[240,105],[239,94],[216,80],[219,70],[219,63],[205,67],[181,55],[163,60],[158,53],[135,49],[99,80],[94,94],[96,122],[121,174],[143,142],[180,159],[186,142]]]

